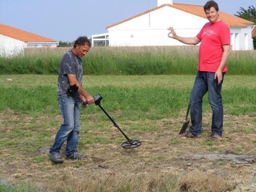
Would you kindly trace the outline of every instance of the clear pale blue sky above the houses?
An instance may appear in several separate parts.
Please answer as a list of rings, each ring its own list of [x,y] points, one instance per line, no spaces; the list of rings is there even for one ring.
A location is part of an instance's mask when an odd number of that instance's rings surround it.
[[[207,0],[174,0],[204,6]],[[236,14],[255,0],[216,0],[219,10]],[[0,0],[0,23],[56,41],[107,33],[105,28],[157,7],[157,0]]]

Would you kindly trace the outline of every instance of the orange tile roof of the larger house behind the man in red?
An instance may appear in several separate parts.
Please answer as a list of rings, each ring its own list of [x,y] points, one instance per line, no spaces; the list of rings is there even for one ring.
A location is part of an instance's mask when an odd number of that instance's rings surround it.
[[[155,11],[155,10],[160,9],[162,7],[165,7],[165,6],[169,6],[169,7],[175,8],[175,9],[179,9],[181,11],[185,11],[187,13],[191,13],[193,15],[197,15],[199,17],[203,17],[203,18],[207,19],[203,6],[188,5],[188,4],[173,4],[173,5],[164,4],[162,6],[156,7],[154,9],[149,10],[149,11],[143,12],[141,14],[135,15],[133,17],[130,17],[130,18],[124,19],[122,21],[119,21],[117,23],[114,23],[112,25],[109,25],[109,26],[106,27],[106,29],[108,29],[110,27],[113,27],[115,25],[121,24],[123,22],[129,21],[129,20],[134,19],[136,17],[139,17],[141,15],[145,15],[149,12]],[[224,21],[228,26],[247,27],[247,25],[252,25],[253,24],[253,22],[251,22],[251,21],[242,19],[240,17],[236,17],[234,15],[227,14],[227,13],[224,13],[224,12],[221,12],[221,11],[219,12],[219,15],[220,15],[221,20]]]

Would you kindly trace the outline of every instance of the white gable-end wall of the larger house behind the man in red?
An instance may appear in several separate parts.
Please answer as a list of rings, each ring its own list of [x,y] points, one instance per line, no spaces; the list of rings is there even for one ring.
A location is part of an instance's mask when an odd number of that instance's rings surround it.
[[[179,15],[177,17],[177,15]],[[173,19],[172,19],[173,18]],[[149,14],[136,17],[119,25],[108,28],[110,46],[168,46],[184,45],[168,38],[169,26],[183,37],[195,37],[207,19],[193,14],[163,7]]]

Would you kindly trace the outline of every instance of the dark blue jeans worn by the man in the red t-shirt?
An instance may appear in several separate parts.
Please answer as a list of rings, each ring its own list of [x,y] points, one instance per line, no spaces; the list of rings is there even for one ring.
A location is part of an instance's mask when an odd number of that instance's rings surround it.
[[[202,103],[203,97],[208,91],[208,101],[212,108],[211,132],[212,134],[222,136],[223,107],[220,91],[224,73],[222,73],[222,81],[219,85],[217,84],[217,79],[214,79],[214,74],[215,73],[199,71],[190,94],[190,118],[192,125],[189,128],[189,132],[194,135],[200,135],[202,132]]]

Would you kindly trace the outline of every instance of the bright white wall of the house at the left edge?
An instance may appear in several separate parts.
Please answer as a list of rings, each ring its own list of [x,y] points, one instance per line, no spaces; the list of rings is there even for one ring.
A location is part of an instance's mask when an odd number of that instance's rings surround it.
[[[0,35],[0,56],[11,56],[22,53],[25,47],[23,41]]]

